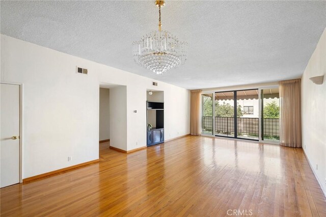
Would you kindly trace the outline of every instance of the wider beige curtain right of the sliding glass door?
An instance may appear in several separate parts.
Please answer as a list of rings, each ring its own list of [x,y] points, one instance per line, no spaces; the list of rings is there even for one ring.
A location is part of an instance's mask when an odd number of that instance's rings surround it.
[[[280,82],[280,142],[301,148],[301,79]]]

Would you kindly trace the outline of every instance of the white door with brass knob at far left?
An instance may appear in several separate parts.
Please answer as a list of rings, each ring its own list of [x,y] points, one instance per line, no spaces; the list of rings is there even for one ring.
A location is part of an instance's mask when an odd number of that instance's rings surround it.
[[[19,88],[1,84],[1,187],[19,183]]]

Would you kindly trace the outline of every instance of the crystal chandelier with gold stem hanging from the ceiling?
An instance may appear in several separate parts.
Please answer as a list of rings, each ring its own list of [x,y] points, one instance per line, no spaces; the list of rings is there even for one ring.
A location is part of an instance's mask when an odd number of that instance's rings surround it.
[[[167,31],[161,29],[161,7],[164,0],[156,0],[158,7],[158,31],[153,31],[143,36],[140,41],[132,43],[133,60],[135,63],[151,70],[156,74],[176,68],[183,64],[187,58],[187,43],[179,41]]]

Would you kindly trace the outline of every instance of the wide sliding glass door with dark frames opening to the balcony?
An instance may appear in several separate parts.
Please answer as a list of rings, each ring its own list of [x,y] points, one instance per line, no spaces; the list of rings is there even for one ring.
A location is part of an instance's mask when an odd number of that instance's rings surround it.
[[[279,88],[202,94],[202,133],[279,143]]]

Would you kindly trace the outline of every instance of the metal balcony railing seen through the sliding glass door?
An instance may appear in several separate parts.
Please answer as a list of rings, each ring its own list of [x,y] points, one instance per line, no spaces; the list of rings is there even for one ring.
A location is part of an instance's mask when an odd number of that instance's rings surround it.
[[[213,117],[202,117],[202,128],[204,132],[212,132]],[[264,137],[279,138],[279,119],[264,118],[263,135]],[[233,117],[215,117],[215,133],[234,134],[234,118]],[[237,118],[237,133],[242,135],[259,135],[259,119],[258,118]]]

